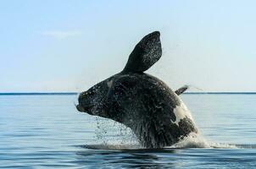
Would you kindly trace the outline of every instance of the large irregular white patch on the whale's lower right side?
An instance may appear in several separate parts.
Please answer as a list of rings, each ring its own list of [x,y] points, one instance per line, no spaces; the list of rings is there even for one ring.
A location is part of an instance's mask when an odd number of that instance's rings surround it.
[[[171,120],[172,123],[175,123],[177,126],[179,126],[179,123],[181,122],[181,119],[187,117],[190,118],[193,122],[191,112],[187,109],[186,105],[181,101],[180,106],[176,106],[174,111],[175,113],[175,122]]]

